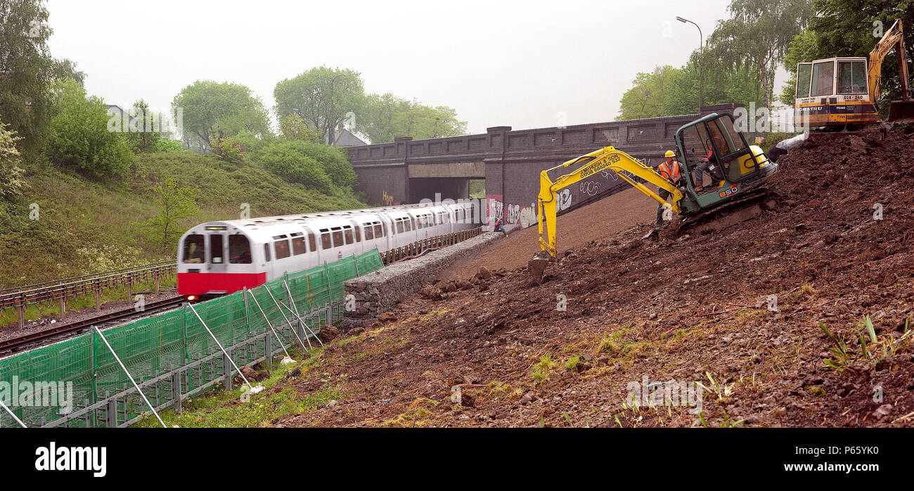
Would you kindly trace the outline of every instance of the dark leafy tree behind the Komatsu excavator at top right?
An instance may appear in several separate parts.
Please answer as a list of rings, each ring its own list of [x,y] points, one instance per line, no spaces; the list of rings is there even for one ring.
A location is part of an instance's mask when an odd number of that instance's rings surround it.
[[[815,16],[809,28],[794,37],[784,58],[791,80],[781,92],[781,102],[793,105],[797,63],[827,57],[868,57],[895,19],[904,25],[908,63],[914,63],[914,0],[814,0]],[[898,99],[898,58],[890,53],[883,61],[880,112],[887,115],[887,101]]]

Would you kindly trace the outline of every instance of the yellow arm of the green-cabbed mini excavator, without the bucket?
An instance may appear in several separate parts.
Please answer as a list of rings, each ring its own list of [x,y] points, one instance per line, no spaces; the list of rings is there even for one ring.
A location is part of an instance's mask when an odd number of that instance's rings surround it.
[[[575,172],[559,176],[555,182],[549,179],[548,172],[555,171],[569,165],[588,162]],[[679,189],[669,181],[665,180],[660,174],[654,172],[654,169],[644,165],[637,159],[621,150],[613,147],[603,147],[597,151],[591,151],[586,155],[563,162],[551,169],[539,172],[539,196],[538,196],[538,218],[539,218],[539,247],[546,252],[548,256],[556,256],[556,215],[558,213],[558,192],[562,189],[587,179],[597,172],[612,171],[616,172],[619,177],[626,183],[632,184],[638,191],[650,196],[659,204],[671,208],[676,213],[682,213],[679,208],[679,200],[683,194]],[[666,203],[657,193],[643,183],[639,183],[632,176],[640,177],[648,183],[652,183],[663,189],[673,196],[673,204]],[[543,228],[546,227],[547,238],[543,238]],[[542,253],[540,253],[542,255]],[[544,259],[547,259],[544,257]]]

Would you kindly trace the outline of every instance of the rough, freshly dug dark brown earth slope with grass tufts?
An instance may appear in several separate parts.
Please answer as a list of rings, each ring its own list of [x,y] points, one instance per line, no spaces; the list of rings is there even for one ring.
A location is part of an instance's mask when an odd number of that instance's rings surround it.
[[[912,426],[912,132],[795,147],[770,182],[781,207],[715,235],[632,227],[571,248],[541,285],[496,267],[405,298],[289,382],[345,397],[270,423]],[[700,413],[626,403],[643,377],[702,382]],[[453,403],[454,385],[473,401]]]

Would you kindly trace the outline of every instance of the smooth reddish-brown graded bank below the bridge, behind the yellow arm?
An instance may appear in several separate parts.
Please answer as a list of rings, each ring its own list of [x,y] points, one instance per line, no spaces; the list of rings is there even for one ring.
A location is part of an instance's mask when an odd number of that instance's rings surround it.
[[[634,188],[563,214],[557,220],[556,245],[559,254],[634,225],[653,223],[656,214],[657,202]],[[481,266],[490,269],[526,266],[526,262],[539,252],[538,235],[536,225],[517,231],[474,256],[462,257],[441,271],[438,279],[473,277]]]

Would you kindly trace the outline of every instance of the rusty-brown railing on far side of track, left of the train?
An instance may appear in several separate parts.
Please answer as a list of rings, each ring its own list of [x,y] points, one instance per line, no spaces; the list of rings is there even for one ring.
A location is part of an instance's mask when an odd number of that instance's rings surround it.
[[[101,309],[101,291],[114,287],[127,287],[127,299],[133,300],[134,283],[154,281],[155,293],[159,293],[159,282],[163,277],[175,276],[175,261],[163,261],[143,266],[127,267],[105,271],[95,275],[69,277],[46,281],[25,287],[0,290],[0,310],[16,308],[19,313],[19,329],[25,324],[25,309],[29,305],[58,301],[60,318],[66,319],[67,298],[88,295],[95,292],[95,308]]]

